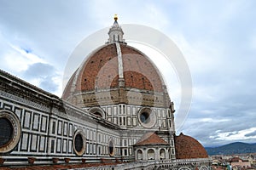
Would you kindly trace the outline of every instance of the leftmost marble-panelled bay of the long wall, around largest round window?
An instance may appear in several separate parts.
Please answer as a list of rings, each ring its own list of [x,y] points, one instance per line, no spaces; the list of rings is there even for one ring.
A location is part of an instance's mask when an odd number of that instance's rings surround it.
[[[0,91],[1,113],[17,116],[21,132],[19,144],[6,155],[20,155],[31,153],[33,155],[45,155],[49,133],[49,107],[43,105],[31,105],[26,99]],[[19,102],[23,100],[24,102]],[[2,116],[3,118],[3,116]]]

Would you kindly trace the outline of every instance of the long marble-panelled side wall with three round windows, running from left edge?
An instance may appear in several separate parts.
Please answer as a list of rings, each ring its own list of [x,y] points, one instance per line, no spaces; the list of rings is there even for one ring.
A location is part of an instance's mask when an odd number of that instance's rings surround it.
[[[6,76],[6,77],[5,77]],[[8,80],[6,79],[8,77]],[[0,74],[3,165],[120,158],[119,126],[91,116],[15,77]],[[5,141],[6,140],[6,141]]]

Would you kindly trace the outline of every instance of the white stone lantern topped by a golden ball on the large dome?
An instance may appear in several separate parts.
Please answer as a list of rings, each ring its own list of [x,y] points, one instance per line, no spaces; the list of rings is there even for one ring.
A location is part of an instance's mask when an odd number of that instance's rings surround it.
[[[123,39],[123,35],[124,32],[122,30],[122,28],[119,26],[118,23],[118,16],[117,14],[114,15],[113,17],[113,26],[111,26],[111,28],[108,31],[108,43],[113,43],[113,42],[125,42],[125,40]]]

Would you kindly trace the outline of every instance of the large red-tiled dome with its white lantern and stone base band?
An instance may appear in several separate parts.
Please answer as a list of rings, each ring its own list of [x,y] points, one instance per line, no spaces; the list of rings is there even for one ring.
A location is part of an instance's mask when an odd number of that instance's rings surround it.
[[[67,82],[62,98],[79,107],[126,103],[170,105],[154,63],[123,39],[115,19],[108,42],[90,53]]]

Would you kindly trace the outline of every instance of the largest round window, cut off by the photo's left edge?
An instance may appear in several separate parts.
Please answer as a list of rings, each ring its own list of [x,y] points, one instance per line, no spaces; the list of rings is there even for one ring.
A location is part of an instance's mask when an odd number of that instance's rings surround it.
[[[15,148],[20,140],[20,121],[11,111],[0,111],[0,153]]]

